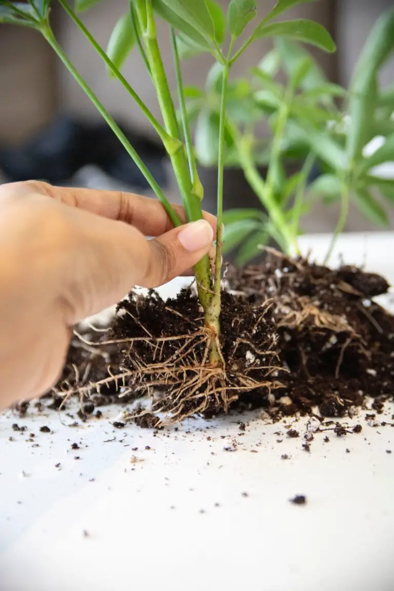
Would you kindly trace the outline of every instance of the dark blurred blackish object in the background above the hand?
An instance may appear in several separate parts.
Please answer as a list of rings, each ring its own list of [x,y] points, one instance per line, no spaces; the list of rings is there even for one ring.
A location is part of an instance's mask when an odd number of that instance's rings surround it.
[[[155,143],[119,124],[160,186],[167,186],[164,160],[166,152]],[[0,168],[9,181],[30,179],[61,184],[88,164],[135,189],[149,187],[138,167],[108,125],[86,124],[61,115],[27,144],[17,148],[0,147]]]

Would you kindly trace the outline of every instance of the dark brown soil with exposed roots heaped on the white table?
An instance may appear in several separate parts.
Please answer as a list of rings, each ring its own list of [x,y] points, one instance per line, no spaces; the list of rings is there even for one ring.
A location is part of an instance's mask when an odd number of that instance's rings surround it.
[[[47,397],[59,408],[67,392],[80,395],[86,419],[102,404],[148,395],[151,408],[137,405],[126,417],[145,428],[161,426],[162,415],[176,422],[230,408],[264,408],[273,420],[338,418],[366,397],[380,414],[394,393],[394,317],[373,298],[388,290],[384,278],[359,268],[276,252],[261,265],[230,267],[220,318],[224,371],[207,363],[209,335],[192,290],[167,301],[130,294],[108,333],[85,329],[83,340],[74,338]]]

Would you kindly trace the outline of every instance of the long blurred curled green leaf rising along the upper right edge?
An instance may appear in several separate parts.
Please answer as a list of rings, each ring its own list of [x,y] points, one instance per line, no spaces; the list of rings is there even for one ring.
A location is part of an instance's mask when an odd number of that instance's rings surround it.
[[[350,131],[347,138],[349,162],[362,158],[371,137],[377,102],[377,75],[394,49],[394,9],[376,22],[360,54],[350,83]]]

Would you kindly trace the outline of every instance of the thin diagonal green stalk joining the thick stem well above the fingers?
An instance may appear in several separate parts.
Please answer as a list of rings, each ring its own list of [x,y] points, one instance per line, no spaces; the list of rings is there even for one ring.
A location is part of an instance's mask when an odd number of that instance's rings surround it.
[[[141,111],[144,113],[144,115],[146,116],[148,121],[151,122],[151,124],[152,124],[153,128],[155,129],[155,131],[157,132],[159,138],[163,142],[164,147],[167,150],[168,154],[171,154],[171,152],[178,150],[180,142],[177,139],[170,137],[170,135],[168,135],[168,133],[165,131],[165,129],[159,124],[157,119],[155,119],[154,115],[152,115],[152,113],[149,111],[149,109],[145,106],[145,104],[141,100],[141,98],[139,98],[139,96],[135,92],[135,90],[133,90],[132,87],[129,85],[129,83],[127,82],[127,80],[123,76],[123,74],[121,72],[119,72],[119,70],[115,66],[115,64],[112,63],[112,61],[109,59],[109,57],[107,56],[107,54],[105,53],[103,48],[100,47],[99,44],[97,43],[97,41],[95,40],[95,38],[92,37],[92,34],[89,33],[89,31],[84,26],[83,22],[80,21],[80,19],[77,17],[77,15],[73,11],[73,9],[69,7],[66,0],[58,0],[58,2],[61,5],[61,7],[64,9],[64,11],[67,12],[67,14],[71,18],[71,20],[73,20],[73,22],[77,25],[79,30],[84,34],[84,36],[87,38],[89,43],[92,44],[93,48],[99,54],[101,59],[107,64],[109,69],[112,70],[112,72],[118,78],[119,82],[121,82],[122,86],[125,87],[125,89],[129,93],[129,95],[132,96],[132,98],[135,100],[136,104],[139,106]]]

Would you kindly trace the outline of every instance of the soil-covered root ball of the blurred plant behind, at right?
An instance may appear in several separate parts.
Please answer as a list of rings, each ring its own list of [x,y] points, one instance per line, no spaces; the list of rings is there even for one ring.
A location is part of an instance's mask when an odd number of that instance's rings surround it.
[[[291,404],[281,410],[338,417],[364,396],[394,394],[394,317],[373,297],[387,293],[379,275],[336,270],[269,252],[262,265],[229,268],[227,281],[253,305],[270,298]]]

